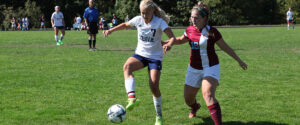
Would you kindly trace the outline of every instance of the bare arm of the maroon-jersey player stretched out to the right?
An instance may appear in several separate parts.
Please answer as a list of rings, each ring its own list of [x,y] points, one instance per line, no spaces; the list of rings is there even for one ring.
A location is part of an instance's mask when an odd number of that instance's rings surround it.
[[[240,66],[246,70],[247,69],[247,64],[245,62],[243,62],[240,57],[234,52],[234,50],[224,41],[223,38],[221,38],[220,40],[218,40],[217,45],[220,47],[221,50],[223,50],[224,52],[226,52],[229,56],[231,56],[232,58],[234,58],[239,64]]]

